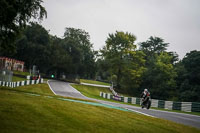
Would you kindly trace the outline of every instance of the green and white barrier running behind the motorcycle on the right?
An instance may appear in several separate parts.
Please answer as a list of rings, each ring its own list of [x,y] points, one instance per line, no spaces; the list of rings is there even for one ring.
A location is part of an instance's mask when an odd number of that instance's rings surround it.
[[[0,84],[2,84],[0,82]],[[139,104],[141,102],[140,98],[137,97],[117,97],[112,94],[107,94],[100,92],[100,96],[106,99],[115,99],[125,103]],[[181,110],[185,112],[200,112],[200,103],[197,102],[174,102],[174,101],[164,101],[151,99],[151,107],[163,108],[168,110]]]

